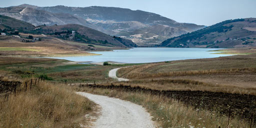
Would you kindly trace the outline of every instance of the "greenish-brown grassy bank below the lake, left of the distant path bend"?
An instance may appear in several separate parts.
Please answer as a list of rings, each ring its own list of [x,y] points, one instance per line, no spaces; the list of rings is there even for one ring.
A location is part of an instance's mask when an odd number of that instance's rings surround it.
[[[0,74],[22,78],[47,75],[55,82],[86,83],[112,81],[108,71],[131,64],[92,65],[50,58],[0,57]]]

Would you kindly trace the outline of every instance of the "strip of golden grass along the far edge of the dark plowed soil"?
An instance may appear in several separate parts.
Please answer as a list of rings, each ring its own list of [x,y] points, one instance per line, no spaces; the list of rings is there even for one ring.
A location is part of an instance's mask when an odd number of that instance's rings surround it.
[[[125,85],[139,86],[141,88],[150,88],[153,90],[190,90],[190,91],[210,91],[226,92],[237,94],[256,95],[255,87],[239,87],[225,84],[211,84],[191,79],[151,79],[151,80],[130,80],[124,82],[103,83],[103,85]]]

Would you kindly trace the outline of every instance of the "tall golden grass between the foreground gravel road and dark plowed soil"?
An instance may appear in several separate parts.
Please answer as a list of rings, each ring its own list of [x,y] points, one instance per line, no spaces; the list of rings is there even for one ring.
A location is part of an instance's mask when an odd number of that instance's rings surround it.
[[[228,117],[217,112],[187,107],[181,102],[142,92],[124,92],[117,89],[78,88],[94,94],[107,95],[142,105],[153,116],[157,127],[249,127],[244,120]]]

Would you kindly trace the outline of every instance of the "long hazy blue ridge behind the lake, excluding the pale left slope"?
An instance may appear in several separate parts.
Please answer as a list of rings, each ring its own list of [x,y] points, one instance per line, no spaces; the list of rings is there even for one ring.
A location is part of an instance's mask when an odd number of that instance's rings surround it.
[[[79,16],[100,27],[101,31],[107,34],[131,39],[138,45],[160,43],[166,38],[204,27],[192,23],[179,23],[151,12],[118,7],[68,7],[58,5],[38,7],[37,9]],[[155,28],[157,31],[154,31]]]

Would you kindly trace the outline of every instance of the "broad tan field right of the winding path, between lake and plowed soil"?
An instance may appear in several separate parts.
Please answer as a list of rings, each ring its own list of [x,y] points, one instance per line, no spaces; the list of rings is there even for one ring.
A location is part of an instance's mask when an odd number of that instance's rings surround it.
[[[244,52],[239,50],[233,52]],[[250,50],[255,51],[252,48]],[[142,64],[122,68],[117,74],[119,77],[135,80],[122,83],[124,85],[161,90],[202,90],[256,95],[256,54],[250,53]]]

